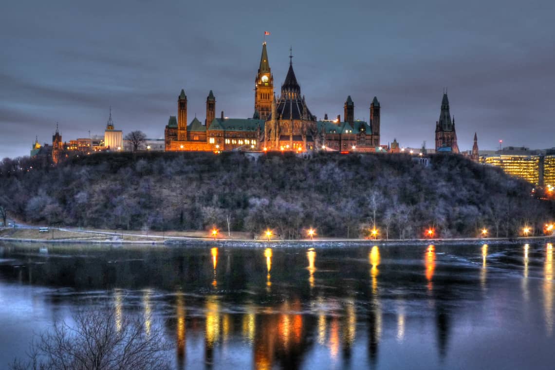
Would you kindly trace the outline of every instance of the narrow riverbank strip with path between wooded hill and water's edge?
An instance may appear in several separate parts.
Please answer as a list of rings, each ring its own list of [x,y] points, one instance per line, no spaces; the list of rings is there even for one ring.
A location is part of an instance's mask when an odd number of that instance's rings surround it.
[[[247,233],[231,233],[226,237],[208,237],[206,232],[154,232],[141,234],[139,231],[115,232],[107,230],[77,230],[77,229],[49,229],[41,232],[39,229],[0,229],[0,241],[48,243],[48,244],[149,244],[149,245],[223,245],[241,247],[275,246],[323,246],[341,247],[358,245],[472,245],[472,244],[522,244],[526,242],[551,242],[555,236],[530,236],[516,238],[453,238],[453,239],[329,239],[314,238],[304,240],[265,240],[248,239]],[[221,236],[221,235],[219,235]]]

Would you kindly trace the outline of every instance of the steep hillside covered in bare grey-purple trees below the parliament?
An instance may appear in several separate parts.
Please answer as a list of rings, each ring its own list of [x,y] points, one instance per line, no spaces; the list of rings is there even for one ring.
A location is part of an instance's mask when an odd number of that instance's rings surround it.
[[[216,226],[290,239],[307,227],[356,237],[541,234],[551,202],[501,170],[455,155],[423,166],[408,155],[102,153],[54,167],[32,158],[0,164],[0,206],[26,222],[104,229]]]

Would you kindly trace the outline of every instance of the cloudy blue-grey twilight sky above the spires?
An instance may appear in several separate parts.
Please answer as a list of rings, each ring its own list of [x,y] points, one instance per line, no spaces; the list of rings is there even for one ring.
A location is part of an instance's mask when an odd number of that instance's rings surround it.
[[[545,1],[18,0],[0,12],[0,158],[116,129],[162,138],[185,89],[189,120],[252,116],[264,31],[276,92],[293,49],[313,114],[382,106],[381,141],[433,147],[448,87],[461,150],[555,146],[555,3]]]

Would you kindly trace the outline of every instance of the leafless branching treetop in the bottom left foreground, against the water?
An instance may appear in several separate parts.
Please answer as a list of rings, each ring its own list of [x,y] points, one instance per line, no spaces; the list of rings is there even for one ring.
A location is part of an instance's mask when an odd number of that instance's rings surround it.
[[[28,362],[16,359],[13,370],[169,369],[162,327],[147,325],[149,317],[117,315],[112,309],[84,310],[74,325],[56,322],[28,352]]]

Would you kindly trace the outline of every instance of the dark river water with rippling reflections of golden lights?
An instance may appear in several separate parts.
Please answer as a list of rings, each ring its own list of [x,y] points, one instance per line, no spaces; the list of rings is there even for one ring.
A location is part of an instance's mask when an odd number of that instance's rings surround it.
[[[0,368],[108,301],[176,368],[555,367],[553,248],[0,245]]]

